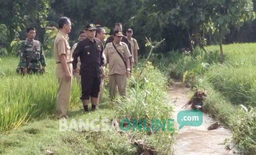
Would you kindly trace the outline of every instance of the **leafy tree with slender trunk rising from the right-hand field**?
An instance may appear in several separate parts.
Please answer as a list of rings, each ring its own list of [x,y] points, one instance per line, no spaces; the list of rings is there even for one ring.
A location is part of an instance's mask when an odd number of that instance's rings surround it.
[[[241,27],[245,21],[255,19],[252,0],[209,0],[211,20],[219,32],[221,63],[223,63],[223,36],[231,25]]]

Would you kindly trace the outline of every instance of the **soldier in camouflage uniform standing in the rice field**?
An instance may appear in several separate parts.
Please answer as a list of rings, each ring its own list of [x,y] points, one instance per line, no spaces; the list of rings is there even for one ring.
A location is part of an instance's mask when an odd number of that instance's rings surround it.
[[[27,28],[27,39],[20,44],[20,61],[17,73],[44,73],[45,72],[45,56],[42,51],[41,43],[35,38],[35,28]],[[41,65],[42,69],[41,69]]]

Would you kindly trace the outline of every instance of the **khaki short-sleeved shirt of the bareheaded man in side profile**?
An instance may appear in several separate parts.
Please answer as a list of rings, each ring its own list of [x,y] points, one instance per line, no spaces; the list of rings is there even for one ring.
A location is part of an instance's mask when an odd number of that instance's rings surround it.
[[[54,41],[53,55],[56,63],[60,62],[60,55],[65,54],[67,62],[73,61],[68,35],[59,31]]]

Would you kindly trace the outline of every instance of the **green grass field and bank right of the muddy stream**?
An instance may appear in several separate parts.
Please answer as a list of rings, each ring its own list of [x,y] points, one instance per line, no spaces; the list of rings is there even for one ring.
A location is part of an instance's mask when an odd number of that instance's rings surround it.
[[[192,55],[177,56],[176,52],[162,59],[170,58],[165,67],[171,77],[207,91],[204,107],[233,131],[238,150],[256,154],[256,43],[223,45],[223,64],[218,45],[206,49],[208,53],[196,49]],[[248,112],[241,110],[243,106]]]

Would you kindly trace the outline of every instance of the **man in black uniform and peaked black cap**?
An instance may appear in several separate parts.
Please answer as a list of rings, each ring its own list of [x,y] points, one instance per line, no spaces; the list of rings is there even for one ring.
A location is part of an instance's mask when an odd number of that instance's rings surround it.
[[[91,110],[94,111],[97,105],[99,94],[99,86],[101,77],[105,77],[102,69],[103,62],[103,47],[99,39],[95,38],[94,24],[86,25],[85,29],[87,38],[80,41],[73,53],[73,68],[76,72],[80,72],[82,97],[84,111],[88,111],[89,99],[91,99]],[[78,57],[80,57],[80,70],[77,68]]]

